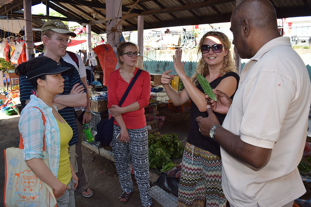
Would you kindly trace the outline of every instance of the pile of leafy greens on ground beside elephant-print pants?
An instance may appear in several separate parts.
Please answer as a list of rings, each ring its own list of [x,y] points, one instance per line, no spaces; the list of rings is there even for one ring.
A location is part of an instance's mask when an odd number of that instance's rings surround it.
[[[162,168],[160,171],[175,167],[172,158],[183,156],[183,145],[178,139],[177,134],[154,133],[148,135],[149,144],[149,165],[151,168]]]

